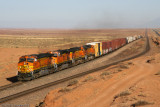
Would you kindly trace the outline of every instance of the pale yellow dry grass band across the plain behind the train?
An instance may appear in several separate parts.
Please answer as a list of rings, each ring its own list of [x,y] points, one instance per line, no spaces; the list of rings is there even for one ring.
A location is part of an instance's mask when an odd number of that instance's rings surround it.
[[[70,35],[70,36],[68,36]],[[96,39],[95,39],[96,38]],[[16,37],[1,37],[0,36],[0,46],[1,47],[28,47],[28,48],[60,48],[63,46],[79,46],[91,41],[107,41],[111,40],[113,37],[93,35],[87,36],[87,34],[64,34],[64,36],[52,37],[47,36],[16,36]]]

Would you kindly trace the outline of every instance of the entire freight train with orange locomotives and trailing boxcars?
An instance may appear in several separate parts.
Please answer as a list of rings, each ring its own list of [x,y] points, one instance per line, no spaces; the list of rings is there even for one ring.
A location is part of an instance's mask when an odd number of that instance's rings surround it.
[[[106,42],[91,42],[80,47],[24,55],[18,62],[18,80],[32,80],[93,60],[134,41],[142,36],[129,36]]]

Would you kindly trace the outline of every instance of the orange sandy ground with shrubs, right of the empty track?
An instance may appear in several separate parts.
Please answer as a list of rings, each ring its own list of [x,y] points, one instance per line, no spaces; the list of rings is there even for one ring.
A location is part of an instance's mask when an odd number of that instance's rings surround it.
[[[149,36],[152,36],[149,32]],[[159,46],[151,40],[144,56],[71,81],[48,93],[45,107],[129,107],[160,105]]]

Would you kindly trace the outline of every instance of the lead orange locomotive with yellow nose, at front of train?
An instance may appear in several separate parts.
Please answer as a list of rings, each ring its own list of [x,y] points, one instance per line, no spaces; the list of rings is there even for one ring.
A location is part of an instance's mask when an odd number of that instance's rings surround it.
[[[51,54],[25,55],[19,58],[18,80],[31,80],[52,72]]]

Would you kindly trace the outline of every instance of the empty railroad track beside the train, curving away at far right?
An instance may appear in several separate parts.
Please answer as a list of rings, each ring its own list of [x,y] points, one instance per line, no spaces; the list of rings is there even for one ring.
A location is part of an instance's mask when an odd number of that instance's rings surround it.
[[[24,95],[33,93],[33,92],[41,90],[41,89],[44,89],[44,88],[47,88],[47,87],[50,87],[50,86],[53,86],[53,85],[57,85],[57,84],[60,84],[62,82],[66,82],[68,80],[71,80],[71,79],[74,79],[74,78],[77,78],[77,77],[81,77],[81,76],[87,75],[89,73],[93,73],[93,72],[105,69],[106,67],[118,64],[119,62],[127,61],[127,60],[130,60],[130,59],[134,59],[134,58],[137,58],[139,56],[142,56],[142,55],[144,55],[146,52],[148,52],[150,50],[149,38],[148,38],[148,35],[147,35],[147,30],[145,32],[145,36],[147,38],[146,39],[145,50],[142,53],[138,54],[138,55],[135,55],[133,57],[126,58],[126,59],[123,59],[123,60],[120,60],[120,61],[116,61],[116,62],[113,62],[111,64],[107,64],[107,65],[104,65],[104,66],[101,66],[101,67],[98,67],[98,68],[95,68],[95,69],[92,69],[92,70],[88,70],[86,72],[79,73],[79,74],[76,74],[76,75],[73,75],[73,76],[70,76],[70,77],[66,77],[66,78],[63,78],[63,79],[60,79],[60,80],[57,80],[57,81],[54,81],[54,82],[50,82],[50,83],[47,83],[47,84],[44,84],[44,85],[41,85],[41,86],[38,86],[38,87],[35,87],[35,88],[32,88],[32,89],[28,89],[28,90],[25,90],[25,91],[22,91],[22,92],[13,94],[13,95],[9,95],[9,96],[0,98],[0,103],[4,103],[4,102],[7,102],[9,100],[16,99],[16,98],[18,98],[20,96],[24,96]]]

